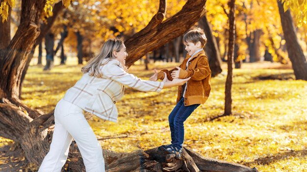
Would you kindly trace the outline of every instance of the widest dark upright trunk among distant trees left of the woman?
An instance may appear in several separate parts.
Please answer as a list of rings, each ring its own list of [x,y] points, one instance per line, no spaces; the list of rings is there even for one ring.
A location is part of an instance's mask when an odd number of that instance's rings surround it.
[[[45,49],[46,49],[46,65],[44,67],[44,70],[50,70],[51,65],[53,64],[54,60],[54,35],[53,33],[48,33],[45,36]]]

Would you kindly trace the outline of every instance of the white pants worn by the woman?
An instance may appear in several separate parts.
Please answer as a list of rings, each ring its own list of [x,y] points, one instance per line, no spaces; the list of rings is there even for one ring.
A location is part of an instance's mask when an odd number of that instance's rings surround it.
[[[84,118],[82,109],[61,99],[54,110],[54,122],[50,151],[38,172],[60,172],[73,138],[82,155],[86,172],[104,172],[102,148]]]

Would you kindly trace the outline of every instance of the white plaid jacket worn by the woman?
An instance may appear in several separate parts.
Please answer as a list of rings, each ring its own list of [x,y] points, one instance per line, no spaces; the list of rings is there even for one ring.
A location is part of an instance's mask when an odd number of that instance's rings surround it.
[[[156,92],[160,92],[164,85],[163,82],[144,81],[127,73],[117,60],[102,65],[101,70],[102,78],[83,74],[75,86],[67,90],[63,99],[108,121],[117,121],[115,103],[123,97],[124,85]]]

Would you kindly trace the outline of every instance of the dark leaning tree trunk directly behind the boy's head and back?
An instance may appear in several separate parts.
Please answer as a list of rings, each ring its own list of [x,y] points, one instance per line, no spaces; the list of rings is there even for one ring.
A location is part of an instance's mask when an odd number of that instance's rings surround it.
[[[216,76],[217,74],[222,72],[222,60],[218,45],[216,43],[215,37],[212,35],[212,28],[206,16],[204,16],[200,21],[198,21],[198,24],[202,29],[204,29],[207,38],[205,52],[208,57],[209,66],[211,69],[211,76]]]

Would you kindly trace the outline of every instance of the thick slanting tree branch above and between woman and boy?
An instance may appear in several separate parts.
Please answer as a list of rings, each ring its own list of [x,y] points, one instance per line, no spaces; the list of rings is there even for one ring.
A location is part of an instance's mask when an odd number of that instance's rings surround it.
[[[147,52],[153,51],[186,32],[204,16],[205,2],[206,0],[188,0],[177,14],[166,21],[159,21],[160,23],[153,22],[156,20],[157,15],[155,15],[151,21],[153,23],[149,24],[150,26],[146,26],[125,42],[129,54],[126,65],[131,66]]]

